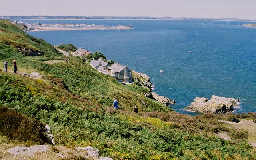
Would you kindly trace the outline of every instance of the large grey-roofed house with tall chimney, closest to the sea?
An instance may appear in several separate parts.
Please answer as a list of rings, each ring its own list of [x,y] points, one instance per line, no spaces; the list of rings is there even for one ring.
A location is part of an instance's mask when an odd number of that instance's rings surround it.
[[[132,83],[132,70],[128,66],[122,66],[118,62],[107,66],[107,72],[120,83]]]

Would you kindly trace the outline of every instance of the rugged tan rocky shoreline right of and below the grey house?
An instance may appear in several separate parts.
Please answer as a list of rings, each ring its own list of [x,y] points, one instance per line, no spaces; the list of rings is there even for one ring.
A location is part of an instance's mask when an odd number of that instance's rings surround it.
[[[169,106],[175,104],[175,100],[171,100],[165,96],[159,96],[157,93],[152,92],[152,88],[154,84],[150,82],[150,77],[144,73],[139,73],[136,71],[132,71],[134,83],[138,84],[144,88],[148,88],[150,90],[149,93],[144,93],[144,95],[148,98],[154,99],[159,103],[162,103],[164,106]]]

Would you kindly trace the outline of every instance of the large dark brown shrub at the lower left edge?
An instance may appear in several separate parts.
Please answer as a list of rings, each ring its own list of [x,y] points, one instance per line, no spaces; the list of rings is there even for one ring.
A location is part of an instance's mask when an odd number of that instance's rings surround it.
[[[10,140],[33,141],[42,143],[44,125],[15,110],[0,107],[0,134]]]

